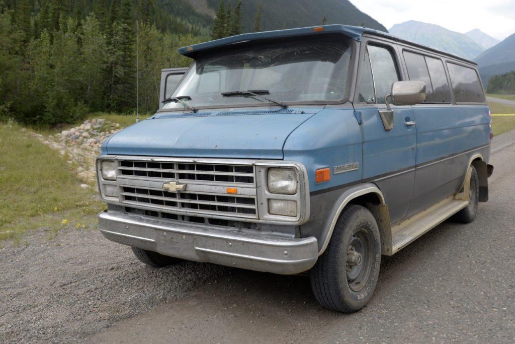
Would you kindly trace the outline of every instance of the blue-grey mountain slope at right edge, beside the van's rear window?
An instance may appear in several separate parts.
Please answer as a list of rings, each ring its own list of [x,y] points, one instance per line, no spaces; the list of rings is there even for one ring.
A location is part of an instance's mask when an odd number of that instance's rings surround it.
[[[477,56],[474,61],[479,66],[479,74],[483,84],[495,74],[508,73],[515,70],[515,34],[496,44]]]

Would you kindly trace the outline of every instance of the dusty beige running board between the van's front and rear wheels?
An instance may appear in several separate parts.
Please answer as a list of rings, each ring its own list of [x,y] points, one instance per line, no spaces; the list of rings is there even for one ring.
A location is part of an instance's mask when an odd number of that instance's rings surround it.
[[[410,242],[415,241],[468,205],[468,201],[457,200],[452,196],[393,226],[391,228],[391,254],[403,249]]]

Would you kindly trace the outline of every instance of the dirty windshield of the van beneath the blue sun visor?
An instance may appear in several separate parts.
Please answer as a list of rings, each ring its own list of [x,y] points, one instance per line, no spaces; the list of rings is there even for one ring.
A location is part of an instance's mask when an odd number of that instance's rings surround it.
[[[350,42],[341,36],[228,47],[198,57],[172,96],[189,96],[194,107],[276,105],[249,94],[222,95],[246,90],[265,90],[279,102],[337,101],[345,94],[350,56]],[[184,106],[167,102],[163,108]]]

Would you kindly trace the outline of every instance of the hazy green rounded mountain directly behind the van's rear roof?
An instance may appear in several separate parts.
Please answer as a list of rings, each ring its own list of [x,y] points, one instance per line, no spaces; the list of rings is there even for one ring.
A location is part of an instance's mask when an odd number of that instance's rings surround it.
[[[464,34],[435,24],[411,20],[393,25],[389,31],[392,35],[431,46],[466,59],[473,59],[485,50],[485,48]]]

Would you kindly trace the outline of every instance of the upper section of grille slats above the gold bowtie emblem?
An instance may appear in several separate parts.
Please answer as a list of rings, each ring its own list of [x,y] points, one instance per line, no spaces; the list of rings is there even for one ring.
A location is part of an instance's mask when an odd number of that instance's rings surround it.
[[[254,167],[214,163],[120,161],[119,175],[228,184],[254,184]]]

